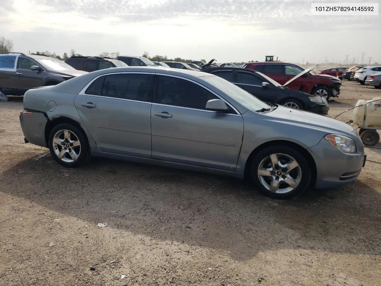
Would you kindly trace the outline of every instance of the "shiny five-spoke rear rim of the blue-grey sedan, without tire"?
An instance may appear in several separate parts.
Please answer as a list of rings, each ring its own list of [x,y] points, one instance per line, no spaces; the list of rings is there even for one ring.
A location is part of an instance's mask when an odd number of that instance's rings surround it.
[[[58,159],[66,163],[77,161],[81,154],[81,143],[74,132],[62,129],[53,137],[53,149]]]

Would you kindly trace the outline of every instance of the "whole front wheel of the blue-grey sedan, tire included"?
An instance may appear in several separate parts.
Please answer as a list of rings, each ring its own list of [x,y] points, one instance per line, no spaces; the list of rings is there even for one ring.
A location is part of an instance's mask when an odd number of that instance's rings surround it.
[[[311,168],[296,149],[270,146],[253,158],[250,177],[262,194],[270,198],[291,198],[306,190]]]

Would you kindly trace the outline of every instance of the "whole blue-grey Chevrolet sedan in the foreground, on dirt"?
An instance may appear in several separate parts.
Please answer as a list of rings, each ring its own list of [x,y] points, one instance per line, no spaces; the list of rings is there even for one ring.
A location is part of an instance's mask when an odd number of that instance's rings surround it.
[[[117,67],[31,89],[20,122],[67,167],[99,156],[247,177],[272,198],[341,186],[365,162],[351,126],[199,71]]]

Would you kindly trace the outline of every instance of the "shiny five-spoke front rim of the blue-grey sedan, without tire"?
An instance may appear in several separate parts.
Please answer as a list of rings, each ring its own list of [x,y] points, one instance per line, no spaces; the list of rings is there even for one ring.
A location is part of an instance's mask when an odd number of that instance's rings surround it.
[[[295,190],[302,178],[299,163],[287,154],[271,154],[258,166],[259,182],[272,193],[285,194]]]

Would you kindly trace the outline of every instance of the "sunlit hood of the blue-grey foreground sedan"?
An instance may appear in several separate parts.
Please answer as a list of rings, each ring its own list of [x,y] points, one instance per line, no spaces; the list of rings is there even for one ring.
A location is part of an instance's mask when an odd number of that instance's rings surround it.
[[[331,119],[308,111],[278,106],[274,111],[266,113],[273,121],[281,121],[291,125],[305,126],[324,130],[327,133],[353,134],[353,127],[344,122]],[[306,134],[308,136],[308,134]]]

